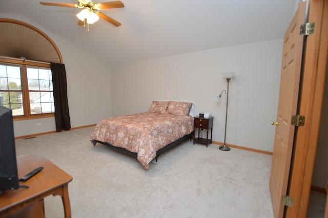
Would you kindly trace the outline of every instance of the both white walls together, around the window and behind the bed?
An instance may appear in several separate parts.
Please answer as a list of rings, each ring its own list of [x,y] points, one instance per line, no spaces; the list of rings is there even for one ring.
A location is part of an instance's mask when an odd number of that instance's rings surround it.
[[[153,100],[172,99],[194,102],[195,115],[212,113],[213,140],[223,142],[226,95],[220,103],[214,98],[227,88],[221,73],[235,71],[230,82],[227,143],[273,150],[270,122],[277,112],[282,39],[138,61],[110,70],[106,63],[29,20],[0,16],[29,23],[56,43],[67,71],[72,127],[145,112]],[[15,121],[14,130],[16,137],[53,131],[54,118]]]

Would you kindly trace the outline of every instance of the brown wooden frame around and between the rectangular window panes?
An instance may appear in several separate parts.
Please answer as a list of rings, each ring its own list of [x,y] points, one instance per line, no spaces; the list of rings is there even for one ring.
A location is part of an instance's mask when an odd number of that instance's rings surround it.
[[[29,97],[28,81],[27,81],[27,73],[26,73],[26,68],[28,68],[29,66],[50,69],[50,63],[32,61],[32,60],[22,60],[22,59],[18,59],[18,58],[6,58],[6,57],[0,57],[0,62],[2,62],[4,64],[8,64],[8,65],[9,64],[16,64],[16,65],[19,64],[20,66],[22,66],[20,76],[22,79],[22,95],[23,95],[24,115],[13,116],[13,120],[16,121],[16,120],[29,120],[29,119],[54,117],[55,113],[31,114],[30,103],[29,103],[30,97]]]

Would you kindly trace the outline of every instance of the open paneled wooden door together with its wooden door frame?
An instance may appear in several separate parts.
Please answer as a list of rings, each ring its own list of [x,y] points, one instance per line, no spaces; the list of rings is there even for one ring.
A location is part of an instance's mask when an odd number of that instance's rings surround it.
[[[304,7],[308,13],[304,13]],[[315,30],[303,39],[299,30],[305,23],[305,14],[306,21],[315,24]],[[305,218],[308,212],[328,68],[327,38],[328,0],[300,2],[284,35],[277,120],[273,122],[276,131],[269,187],[274,217]],[[304,126],[291,125],[291,116],[296,114],[305,117]],[[283,195],[293,198],[293,207],[281,204]]]

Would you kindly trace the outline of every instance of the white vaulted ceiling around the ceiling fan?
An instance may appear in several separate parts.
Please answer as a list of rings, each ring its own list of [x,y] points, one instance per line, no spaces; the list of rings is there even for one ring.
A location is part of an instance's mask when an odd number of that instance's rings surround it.
[[[294,0],[121,1],[125,8],[102,11],[122,23],[120,27],[99,20],[89,32],[77,25],[75,14],[80,9],[76,8],[42,6],[37,0],[0,0],[0,13],[26,17],[116,65],[282,38],[294,7]],[[77,4],[77,0],[42,2]]]

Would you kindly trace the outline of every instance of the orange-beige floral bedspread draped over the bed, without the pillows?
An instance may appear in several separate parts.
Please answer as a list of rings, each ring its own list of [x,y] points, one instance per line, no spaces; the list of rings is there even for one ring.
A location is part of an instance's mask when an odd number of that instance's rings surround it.
[[[156,151],[190,134],[192,116],[139,113],[111,117],[99,121],[91,141],[107,142],[137,153],[138,161],[146,169],[156,157]]]

